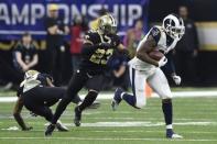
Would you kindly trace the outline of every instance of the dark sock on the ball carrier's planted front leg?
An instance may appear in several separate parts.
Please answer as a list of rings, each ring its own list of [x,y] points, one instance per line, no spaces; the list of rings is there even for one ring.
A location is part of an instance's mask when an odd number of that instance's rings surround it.
[[[162,110],[165,119],[165,124],[170,125],[173,122],[173,104],[171,99],[162,101]]]

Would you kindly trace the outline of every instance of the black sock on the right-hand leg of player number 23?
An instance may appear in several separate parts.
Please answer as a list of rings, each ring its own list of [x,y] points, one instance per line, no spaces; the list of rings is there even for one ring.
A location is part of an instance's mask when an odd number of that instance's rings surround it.
[[[98,96],[98,93],[96,91],[89,91],[87,93],[87,96],[85,97],[83,103],[80,106],[78,106],[79,110],[83,111],[87,107],[91,106],[93,102],[96,100],[97,96]]]

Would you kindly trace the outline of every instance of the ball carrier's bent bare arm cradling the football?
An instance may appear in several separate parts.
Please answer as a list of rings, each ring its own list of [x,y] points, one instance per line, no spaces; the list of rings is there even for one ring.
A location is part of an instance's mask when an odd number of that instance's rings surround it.
[[[159,67],[159,62],[152,59],[150,56],[149,56],[149,53],[151,51],[153,51],[156,46],[156,43],[154,41],[154,38],[149,35],[149,37],[147,38],[147,41],[144,42],[141,42],[141,45],[139,47],[139,51],[137,52],[137,57],[140,59],[140,60],[143,60],[145,63],[149,63],[149,64],[152,64],[156,67]]]

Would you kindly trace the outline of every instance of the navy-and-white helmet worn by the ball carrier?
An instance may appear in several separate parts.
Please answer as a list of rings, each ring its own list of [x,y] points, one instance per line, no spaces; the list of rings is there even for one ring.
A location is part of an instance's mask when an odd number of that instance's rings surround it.
[[[162,27],[171,37],[181,40],[185,34],[185,26],[183,19],[176,14],[169,14],[163,19]]]

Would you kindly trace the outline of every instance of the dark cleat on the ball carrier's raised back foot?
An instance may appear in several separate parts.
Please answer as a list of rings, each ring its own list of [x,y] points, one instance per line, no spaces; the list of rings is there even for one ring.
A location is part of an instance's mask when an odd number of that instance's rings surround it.
[[[113,111],[116,111],[117,109],[118,109],[118,106],[119,106],[119,103],[121,102],[121,93],[122,93],[123,91],[122,91],[122,89],[120,89],[120,88],[117,88],[116,89],[116,92],[115,92],[115,96],[113,96],[113,99],[112,99],[112,101],[111,101],[111,108],[112,108],[112,110]]]

